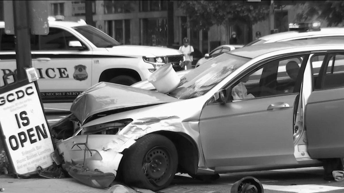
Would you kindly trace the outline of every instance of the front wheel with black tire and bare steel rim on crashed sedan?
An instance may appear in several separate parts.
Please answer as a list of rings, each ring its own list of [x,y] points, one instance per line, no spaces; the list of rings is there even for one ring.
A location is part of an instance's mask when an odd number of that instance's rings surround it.
[[[177,166],[178,153],[172,141],[148,134],[124,152],[120,175],[128,185],[157,191],[170,185]]]

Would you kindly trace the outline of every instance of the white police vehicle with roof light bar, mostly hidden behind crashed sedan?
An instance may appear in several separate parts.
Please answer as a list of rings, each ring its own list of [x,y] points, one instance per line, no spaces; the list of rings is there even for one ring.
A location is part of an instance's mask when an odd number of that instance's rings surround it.
[[[320,29],[320,24],[319,21],[291,23],[289,24],[288,32],[262,36],[245,46],[303,39],[344,39],[344,27],[325,27]]]

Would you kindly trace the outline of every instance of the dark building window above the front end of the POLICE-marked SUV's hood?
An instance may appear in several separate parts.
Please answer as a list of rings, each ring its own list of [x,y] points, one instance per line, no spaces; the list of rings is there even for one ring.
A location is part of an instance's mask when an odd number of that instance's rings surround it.
[[[142,19],[142,45],[166,46],[167,45],[167,19]]]

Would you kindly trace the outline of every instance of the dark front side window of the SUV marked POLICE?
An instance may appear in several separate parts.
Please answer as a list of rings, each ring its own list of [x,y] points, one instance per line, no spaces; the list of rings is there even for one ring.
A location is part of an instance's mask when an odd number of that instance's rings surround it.
[[[73,34],[50,27],[48,35],[40,35],[40,50],[68,50],[70,41],[79,41]]]

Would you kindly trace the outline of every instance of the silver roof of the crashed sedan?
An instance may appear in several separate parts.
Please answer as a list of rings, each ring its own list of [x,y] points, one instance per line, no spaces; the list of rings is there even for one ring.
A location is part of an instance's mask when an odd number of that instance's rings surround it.
[[[311,47],[311,46],[329,46],[329,45],[343,45],[344,40],[340,39],[308,39],[308,40],[293,40],[286,42],[274,42],[266,44],[258,44],[252,46],[242,47],[227,52],[228,54],[234,54],[246,58],[255,58],[257,56],[274,52],[283,49]]]

